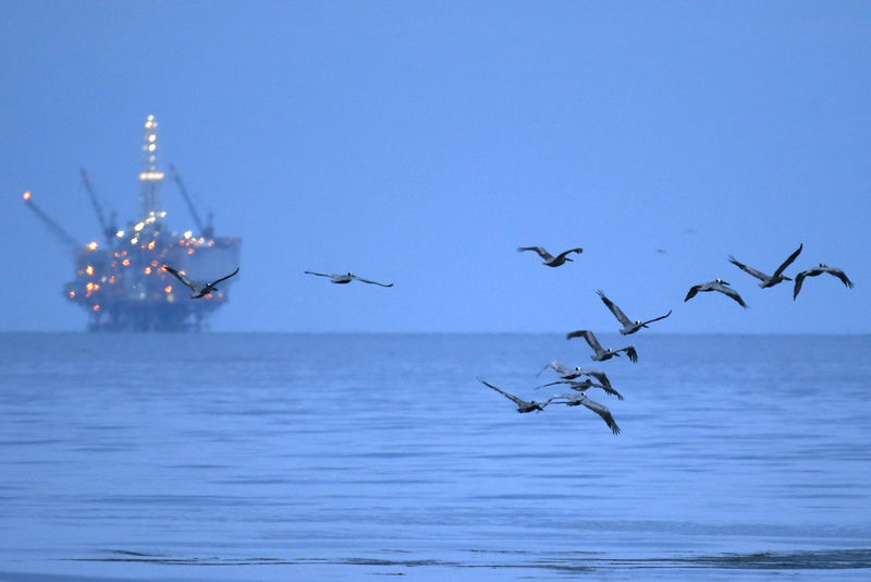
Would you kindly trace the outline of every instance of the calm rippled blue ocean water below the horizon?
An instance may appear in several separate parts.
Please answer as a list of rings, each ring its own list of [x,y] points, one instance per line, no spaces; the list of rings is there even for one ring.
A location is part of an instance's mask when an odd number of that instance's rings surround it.
[[[629,339],[2,334],[0,580],[871,579],[871,337]]]

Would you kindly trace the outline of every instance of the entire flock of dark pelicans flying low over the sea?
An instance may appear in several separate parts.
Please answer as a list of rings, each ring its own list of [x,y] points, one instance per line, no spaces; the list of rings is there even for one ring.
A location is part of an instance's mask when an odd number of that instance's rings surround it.
[[[789,255],[786,258],[786,260],[784,260],[781,264],[780,267],[777,267],[777,269],[774,271],[773,275],[766,275],[760,270],[755,269],[753,267],[749,267],[744,263],[739,262],[738,259],[736,259],[732,255],[729,255],[728,260],[733,265],[737,266],[739,269],[759,279],[761,281],[759,283],[759,287],[761,287],[762,289],[768,289],[783,281],[793,280],[792,278],[785,276],[784,271],[798,257],[798,255],[801,253],[802,247],[803,245],[799,245],[798,248],[796,248],[795,252],[793,252],[793,254]],[[574,260],[572,257],[568,256],[569,254],[579,255],[580,253],[584,252],[582,248],[576,247],[576,248],[569,248],[568,251],[564,251],[563,253],[553,256],[541,246],[520,246],[517,248],[517,251],[518,252],[533,251],[538,253],[538,255],[543,259],[543,265],[548,267],[560,267],[562,265],[565,265],[567,262]],[[234,270],[230,275],[221,277],[220,279],[216,279],[214,281],[211,282],[198,283],[193,279],[191,279],[189,277],[187,277],[187,275],[184,271],[179,271],[169,265],[163,265],[163,268],[169,272],[171,272],[172,275],[174,275],[175,278],[177,278],[182,283],[184,283],[194,292],[191,295],[191,299],[199,299],[208,295],[212,291],[217,291],[218,283],[225,281],[226,279],[230,279],[231,277],[233,277],[238,272],[238,268],[236,268],[236,270]],[[380,287],[393,287],[393,283],[380,283],[378,281],[364,279],[363,277],[358,277],[353,272],[326,274],[326,272],[315,272],[310,270],[307,270],[305,272],[306,275],[315,275],[317,277],[329,277],[330,282],[338,284],[349,283],[351,281],[360,281],[364,283],[377,284]],[[852,287],[852,281],[850,281],[850,279],[843,270],[829,267],[827,265],[820,263],[817,267],[800,271],[798,275],[796,275],[795,287],[793,289],[793,300],[795,301],[795,299],[798,296],[799,291],[801,291],[801,286],[807,277],[817,277],[822,274],[829,274],[834,277],[837,277],[845,286],[849,288]],[[741,307],[747,307],[747,303],[745,303],[744,299],[738,294],[738,292],[735,289],[731,288],[729,284],[731,283],[722,279],[715,279],[713,281],[709,281],[706,283],[695,284],[689,289],[689,292],[687,293],[687,296],[686,299],[684,299],[684,301],[685,302],[689,301],[700,292],[717,291],[736,301]],[[666,313],[665,315],[660,315],[659,317],[654,317],[652,319],[647,319],[645,322],[640,319],[633,320],[629,319],[626,316],[626,314],[623,313],[623,310],[621,310],[613,301],[608,299],[608,296],[605,296],[605,294],[601,290],[597,291],[597,293],[599,294],[599,298],[602,300],[602,303],[605,304],[609,311],[614,315],[614,317],[616,317],[617,322],[619,322],[619,324],[623,326],[619,329],[622,336],[628,336],[635,334],[636,331],[648,327],[648,324],[665,319],[666,317],[672,315],[672,312],[670,310],[668,313]],[[596,335],[589,329],[578,329],[576,331],[569,331],[568,334],[566,334],[566,339],[571,340],[573,338],[584,338],[584,340],[587,342],[587,344],[593,352],[590,355],[590,360],[594,362],[605,362],[608,360],[611,360],[612,357],[618,357],[621,356],[621,352],[624,352],[630,362],[638,362],[638,351],[635,349],[634,345],[626,345],[624,348],[618,348],[616,350],[613,350],[611,348],[604,349],[602,348],[602,344],[599,343],[599,340],[596,338]],[[506,392],[505,390],[499,388],[498,386],[494,386],[481,378],[478,379],[484,386],[492,388],[493,390],[503,395],[505,398],[514,401],[514,403],[517,404],[517,412],[524,412],[524,413],[532,411],[541,412],[544,410],[544,407],[549,404],[565,404],[567,407],[584,405],[589,410],[593,411],[594,413],[599,414],[599,416],[601,416],[602,420],[604,420],[605,424],[608,424],[609,428],[611,428],[612,433],[614,433],[615,435],[619,434],[619,426],[617,426],[617,423],[614,421],[614,416],[611,414],[611,411],[608,409],[608,407],[587,398],[586,393],[587,390],[589,390],[590,388],[601,388],[602,390],[604,390],[605,393],[615,396],[618,400],[623,400],[623,395],[621,395],[617,390],[614,389],[614,387],[611,385],[611,380],[608,378],[608,375],[600,369],[584,369],[579,366],[567,367],[564,366],[559,361],[554,360],[547,366],[544,366],[539,372],[539,375],[548,368],[553,368],[553,371],[556,372],[556,374],[559,375],[560,379],[548,384],[543,384],[541,386],[537,386],[536,387],[537,389],[544,388],[547,386],[566,385],[572,390],[575,390],[575,393],[555,395],[543,402],[538,402],[536,400],[526,401],[510,392]],[[578,378],[580,378],[581,376],[586,376],[586,378],[579,380]],[[596,381],[591,378],[594,378]]]

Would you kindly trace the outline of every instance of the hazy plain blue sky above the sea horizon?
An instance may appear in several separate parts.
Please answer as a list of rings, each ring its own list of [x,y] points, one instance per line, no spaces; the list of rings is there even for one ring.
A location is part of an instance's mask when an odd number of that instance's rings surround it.
[[[143,124],[218,234],[226,331],[862,332],[871,2],[0,0],[3,330],[79,330],[63,246],[137,209]],[[169,223],[193,220],[173,184]],[[726,257],[787,274],[761,290]],[[520,245],[584,247],[550,269]],[[659,252],[658,250],[663,250]],[[347,271],[395,287],[335,286]],[[725,278],[741,310],[690,286]],[[647,331],[646,331],[647,332]]]

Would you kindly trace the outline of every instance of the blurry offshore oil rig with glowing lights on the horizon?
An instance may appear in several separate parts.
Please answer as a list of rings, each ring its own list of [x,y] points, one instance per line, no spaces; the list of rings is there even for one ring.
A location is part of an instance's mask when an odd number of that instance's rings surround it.
[[[160,190],[165,175],[158,166],[155,116],[148,116],[145,122],[139,214],[126,228],[116,227],[114,213],[107,219],[84,169],[82,181],[102,229],[102,242],[81,244],[36,205],[30,192],[24,193],[30,210],[75,257],[75,278],[63,286],[63,295],[87,311],[89,330],[199,331],[208,328],[209,315],[226,303],[232,280],[217,293],[192,300],[189,289],[161,268],[169,264],[195,280],[213,280],[238,266],[242,244],[237,237],[216,237],[211,213],[204,223],[172,165],[170,173],[196,231],[179,233],[167,226]]]

